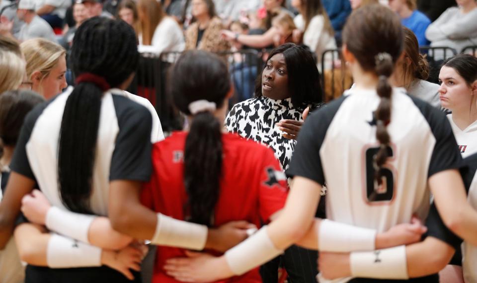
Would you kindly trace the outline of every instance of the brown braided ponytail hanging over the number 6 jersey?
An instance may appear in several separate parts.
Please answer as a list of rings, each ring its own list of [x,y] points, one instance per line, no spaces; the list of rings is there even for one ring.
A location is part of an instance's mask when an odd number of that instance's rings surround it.
[[[391,94],[393,88],[389,84],[389,77],[393,73],[394,64],[393,58],[387,53],[380,53],[376,56],[376,73],[379,76],[377,92],[381,101],[376,110],[376,139],[380,142],[380,148],[376,154],[375,165],[376,181],[379,185],[382,183],[382,167],[388,158],[388,146],[390,143],[390,136],[387,126],[391,121]]]

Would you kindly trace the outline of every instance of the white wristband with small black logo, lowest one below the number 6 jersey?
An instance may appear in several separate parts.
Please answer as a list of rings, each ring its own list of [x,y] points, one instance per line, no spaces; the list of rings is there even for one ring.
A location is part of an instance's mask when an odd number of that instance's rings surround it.
[[[353,252],[350,256],[350,267],[353,277],[409,279],[406,246],[372,252]]]

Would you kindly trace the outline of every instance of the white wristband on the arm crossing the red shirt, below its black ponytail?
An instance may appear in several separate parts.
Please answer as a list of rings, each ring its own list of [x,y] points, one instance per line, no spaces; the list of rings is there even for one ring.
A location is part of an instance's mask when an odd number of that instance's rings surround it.
[[[158,213],[156,232],[151,240],[155,245],[202,250],[207,241],[205,225],[177,220]]]

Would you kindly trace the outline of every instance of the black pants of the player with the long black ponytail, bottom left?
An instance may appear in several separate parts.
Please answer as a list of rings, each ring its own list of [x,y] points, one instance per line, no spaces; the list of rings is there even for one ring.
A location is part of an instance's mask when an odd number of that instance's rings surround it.
[[[141,283],[141,275],[133,271],[134,280],[106,266],[88,268],[48,268],[28,265],[25,283]]]

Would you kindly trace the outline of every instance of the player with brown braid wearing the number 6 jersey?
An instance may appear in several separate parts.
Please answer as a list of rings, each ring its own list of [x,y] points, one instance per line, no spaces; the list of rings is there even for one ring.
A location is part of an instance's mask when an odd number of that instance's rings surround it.
[[[447,118],[389,83],[402,49],[394,12],[379,4],[355,10],[343,30],[343,57],[356,85],[305,122],[287,171],[293,183],[281,214],[222,257],[175,259],[167,270],[186,282],[215,281],[242,274],[297,243],[318,249],[320,261],[328,252],[347,257],[347,265],[332,274],[327,271],[336,261],[320,265],[320,283],[341,277],[336,282],[349,277],[436,282],[435,276],[419,277],[437,273],[439,265],[415,269],[415,263],[422,255],[428,260],[438,255],[445,266],[451,248],[436,229],[444,226],[430,223],[431,237],[405,246],[425,231],[413,214],[427,216],[428,187],[441,223],[474,242],[477,212],[466,201],[457,170],[461,156]],[[325,182],[328,219],[313,221]]]

